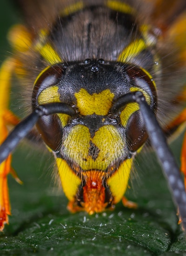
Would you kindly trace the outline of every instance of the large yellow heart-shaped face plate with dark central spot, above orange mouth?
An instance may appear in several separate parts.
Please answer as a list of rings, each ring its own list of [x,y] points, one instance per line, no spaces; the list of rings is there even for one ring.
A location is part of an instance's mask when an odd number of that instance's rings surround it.
[[[112,162],[124,155],[125,147],[119,132],[112,125],[101,127],[93,138],[86,126],[76,125],[63,144],[66,156],[83,170],[105,170]]]

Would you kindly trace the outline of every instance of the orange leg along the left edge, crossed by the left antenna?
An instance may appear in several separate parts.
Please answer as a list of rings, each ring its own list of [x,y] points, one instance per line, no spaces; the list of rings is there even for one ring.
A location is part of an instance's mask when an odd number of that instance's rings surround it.
[[[15,69],[15,60],[12,58],[4,61],[0,68],[0,143],[8,135],[8,125],[17,125],[19,118],[8,110],[11,76]],[[10,203],[8,195],[7,175],[11,173],[15,179],[20,182],[15,171],[11,167],[11,155],[0,164],[0,231],[3,230],[4,224],[8,223],[10,215]]]

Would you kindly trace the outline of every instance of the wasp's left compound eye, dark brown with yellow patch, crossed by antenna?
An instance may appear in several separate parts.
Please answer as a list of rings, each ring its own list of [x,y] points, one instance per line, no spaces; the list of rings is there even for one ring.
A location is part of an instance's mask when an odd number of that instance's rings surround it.
[[[65,72],[63,64],[48,67],[40,73],[33,88],[33,108],[38,105],[60,102],[59,83]],[[57,114],[42,116],[36,124],[46,145],[53,151],[59,150],[62,140],[62,125]]]

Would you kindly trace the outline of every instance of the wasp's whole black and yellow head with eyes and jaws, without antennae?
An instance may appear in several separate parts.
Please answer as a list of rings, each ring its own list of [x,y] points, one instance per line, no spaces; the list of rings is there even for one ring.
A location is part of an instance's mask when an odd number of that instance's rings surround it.
[[[155,109],[155,87],[147,73],[102,59],[54,65],[35,82],[33,108],[63,102],[76,111],[75,117],[43,116],[37,128],[57,158],[67,197],[89,213],[120,201],[133,155],[147,139],[137,103],[113,113],[120,97],[133,91],[142,91]],[[74,177],[70,181],[67,170]],[[119,195],[114,192],[118,186]]]

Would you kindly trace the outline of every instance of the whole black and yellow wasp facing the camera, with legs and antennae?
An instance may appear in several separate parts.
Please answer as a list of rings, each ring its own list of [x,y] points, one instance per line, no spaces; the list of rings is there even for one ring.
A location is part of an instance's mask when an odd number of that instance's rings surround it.
[[[30,134],[53,154],[71,212],[121,200],[135,208],[124,196],[133,162],[154,148],[185,229],[185,186],[166,142],[186,121],[185,1],[16,2],[25,25],[10,30],[13,54],[0,69],[0,230],[10,215],[7,175],[19,181],[11,153]],[[12,75],[32,92],[22,121],[8,108]]]

